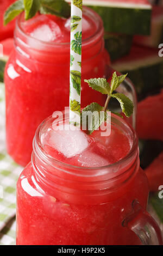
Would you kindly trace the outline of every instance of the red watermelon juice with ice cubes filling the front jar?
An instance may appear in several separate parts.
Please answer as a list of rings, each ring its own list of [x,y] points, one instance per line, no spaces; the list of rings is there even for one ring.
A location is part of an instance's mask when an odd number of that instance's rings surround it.
[[[17,245],[141,244],[122,227],[133,200],[146,209],[148,198],[134,130],[115,115],[104,137],[54,129],[53,120],[37,129],[17,182]]]

